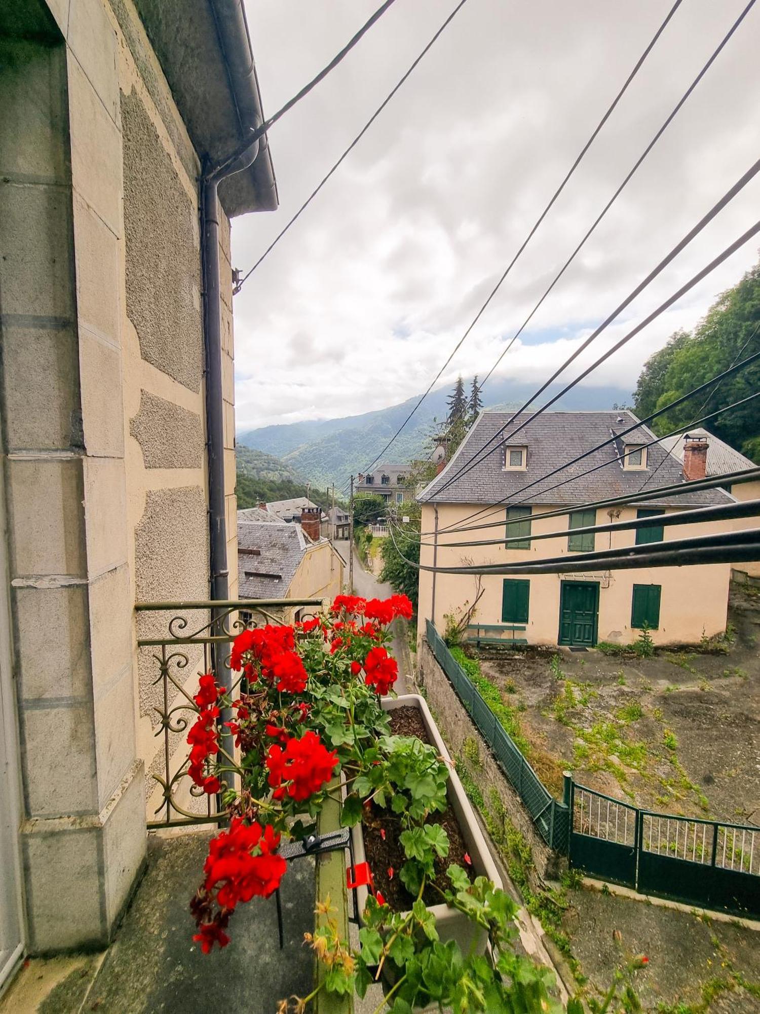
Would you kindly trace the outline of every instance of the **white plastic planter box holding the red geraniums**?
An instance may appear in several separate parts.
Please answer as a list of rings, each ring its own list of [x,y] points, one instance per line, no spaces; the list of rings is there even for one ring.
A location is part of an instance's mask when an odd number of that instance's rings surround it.
[[[472,860],[472,867],[478,876],[485,876],[488,880],[492,880],[497,887],[503,887],[502,878],[497,872],[490,852],[488,851],[488,846],[485,844],[485,839],[478,826],[477,818],[472,811],[470,801],[467,799],[462,783],[459,781],[459,776],[454,771],[451,756],[446,749],[436,723],[433,721],[433,716],[430,713],[427,702],[419,694],[405,694],[398,698],[383,698],[381,703],[383,711],[394,711],[396,708],[411,705],[422,712],[423,721],[425,722],[431,744],[436,747],[449,766],[447,796],[459,823],[459,828],[462,831],[462,838],[467,846],[467,853]],[[351,834],[355,862],[364,863],[367,857],[364,851],[364,832],[361,822],[352,827]],[[360,922],[362,920],[362,913],[367,904],[367,894],[366,887],[357,888]],[[443,903],[430,906],[428,911],[432,912],[436,917],[438,933],[444,943],[449,940],[456,940],[462,953],[467,954],[470,946],[473,945],[473,938],[476,938],[474,940],[475,951],[479,954],[483,953],[487,943],[485,930],[473,923],[471,919],[468,919],[464,913]]]

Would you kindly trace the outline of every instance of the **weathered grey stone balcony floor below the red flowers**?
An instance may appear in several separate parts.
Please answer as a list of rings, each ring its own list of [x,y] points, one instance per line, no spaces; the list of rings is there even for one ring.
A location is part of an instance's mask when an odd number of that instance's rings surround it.
[[[314,860],[289,864],[283,878],[283,950],[275,898],[254,898],[232,917],[231,943],[206,955],[193,941],[187,903],[211,834],[151,835],[147,871],[107,951],[32,959],[0,1011],[275,1014],[282,998],[309,993],[314,962],[303,935],[314,928]]]

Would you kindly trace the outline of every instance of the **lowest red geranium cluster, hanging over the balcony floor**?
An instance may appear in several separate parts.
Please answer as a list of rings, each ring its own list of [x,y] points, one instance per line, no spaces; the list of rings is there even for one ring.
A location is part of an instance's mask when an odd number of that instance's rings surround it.
[[[238,901],[250,901],[254,895],[269,897],[280,886],[287,868],[282,856],[277,855],[280,836],[272,824],[262,827],[255,821],[243,823],[233,817],[228,831],[222,831],[209,845],[209,855],[204,865],[206,882],[204,891],[210,901],[216,891],[216,902],[222,910],[220,916],[199,925],[198,940],[205,954],[215,943],[225,947],[229,937],[223,932]],[[208,908],[199,906],[199,912]]]

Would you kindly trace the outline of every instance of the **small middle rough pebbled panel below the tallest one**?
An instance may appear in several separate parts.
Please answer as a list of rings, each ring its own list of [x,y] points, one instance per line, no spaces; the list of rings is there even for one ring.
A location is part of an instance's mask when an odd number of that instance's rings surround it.
[[[142,448],[146,468],[203,467],[203,425],[195,412],[142,390],[130,432]]]

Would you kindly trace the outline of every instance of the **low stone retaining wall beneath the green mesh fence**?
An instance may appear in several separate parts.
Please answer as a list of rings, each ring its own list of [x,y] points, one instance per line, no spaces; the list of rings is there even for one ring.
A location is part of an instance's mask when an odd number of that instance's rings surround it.
[[[453,757],[465,755],[466,740],[478,746],[478,764],[469,765],[472,780],[487,801],[488,794],[496,790],[510,820],[531,846],[536,872],[540,877],[556,876],[562,859],[546,845],[535,829],[528,810],[502,772],[496,757],[483,742],[466,708],[449,682],[446,673],[436,661],[436,657],[426,640],[417,653],[416,680],[441,730],[441,735]]]

